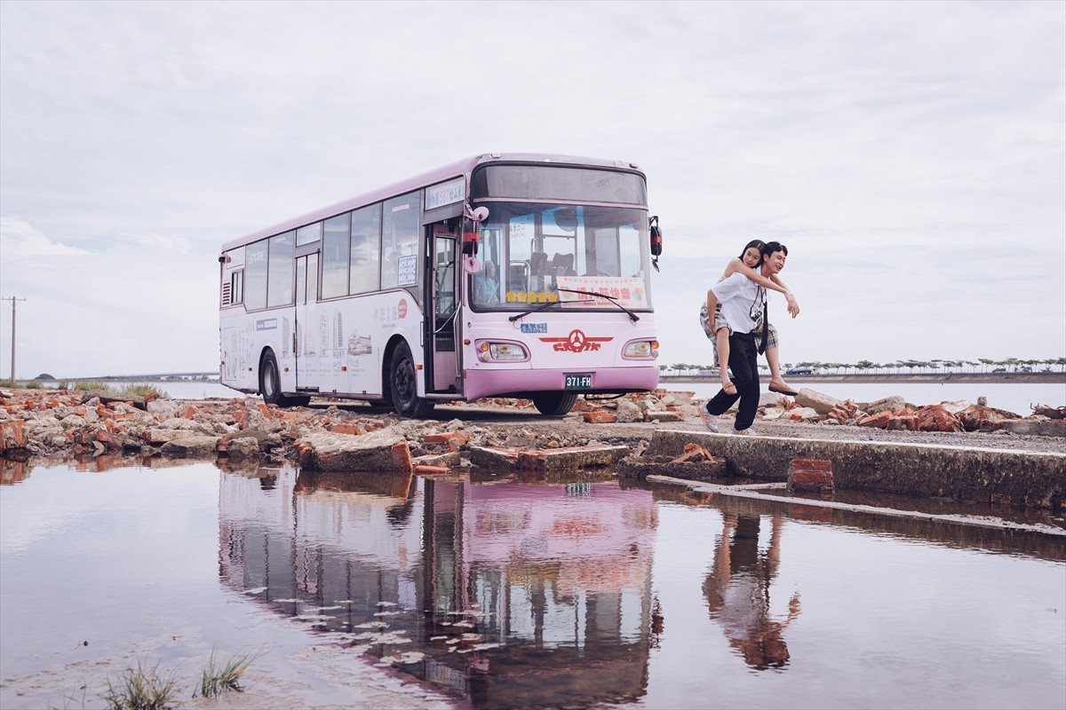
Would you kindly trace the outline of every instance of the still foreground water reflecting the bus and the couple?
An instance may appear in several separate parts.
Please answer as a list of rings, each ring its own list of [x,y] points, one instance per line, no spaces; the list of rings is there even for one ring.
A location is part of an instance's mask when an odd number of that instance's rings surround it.
[[[226,707],[352,705],[364,659],[477,708],[1066,707],[1062,538],[609,474],[3,465],[5,709],[213,647],[262,653]]]

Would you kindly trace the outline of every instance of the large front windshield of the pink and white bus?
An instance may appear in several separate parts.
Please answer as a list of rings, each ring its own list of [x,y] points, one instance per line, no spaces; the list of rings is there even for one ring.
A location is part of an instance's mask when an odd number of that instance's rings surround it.
[[[559,303],[564,310],[650,310],[644,245],[647,211],[551,202],[486,201],[479,225],[482,270],[472,277],[479,310]]]

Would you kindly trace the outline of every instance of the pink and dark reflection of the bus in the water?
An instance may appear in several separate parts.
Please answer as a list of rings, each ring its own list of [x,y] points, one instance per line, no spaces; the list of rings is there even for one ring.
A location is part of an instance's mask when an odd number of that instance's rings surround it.
[[[644,693],[656,508],[643,489],[384,474],[226,475],[222,577],[483,708]]]

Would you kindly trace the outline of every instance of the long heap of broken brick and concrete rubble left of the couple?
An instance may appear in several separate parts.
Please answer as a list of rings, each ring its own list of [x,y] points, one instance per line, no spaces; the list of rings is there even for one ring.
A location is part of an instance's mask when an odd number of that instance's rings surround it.
[[[477,448],[559,450],[603,446],[553,428],[550,434],[464,423],[401,419],[361,407],[279,409],[258,397],[171,400],[63,390],[0,391],[0,457],[211,458],[230,465],[295,461],[309,470],[447,473]],[[604,434],[608,432],[603,432]],[[542,458],[544,458],[542,456]]]

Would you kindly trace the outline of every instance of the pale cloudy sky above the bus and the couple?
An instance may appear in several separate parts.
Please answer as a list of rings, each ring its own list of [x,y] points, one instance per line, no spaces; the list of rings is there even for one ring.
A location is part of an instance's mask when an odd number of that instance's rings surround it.
[[[645,171],[660,364],[753,238],[785,363],[1066,354],[1066,2],[0,0],[15,377],[216,371],[223,243],[495,151]]]

